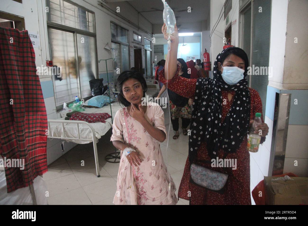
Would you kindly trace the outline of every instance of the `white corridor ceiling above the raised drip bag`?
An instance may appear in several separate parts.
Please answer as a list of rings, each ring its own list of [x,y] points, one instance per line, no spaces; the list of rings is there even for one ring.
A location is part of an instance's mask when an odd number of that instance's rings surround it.
[[[116,2],[127,2],[142,16],[148,19],[153,26],[161,27],[164,4],[161,0],[106,0],[109,6],[115,6]],[[177,27],[183,32],[189,32],[191,26],[200,27],[201,22],[209,20],[209,0],[166,0],[174,11]],[[188,6],[191,12],[187,12]],[[201,31],[201,28],[199,29]],[[155,33],[155,32],[154,32]]]

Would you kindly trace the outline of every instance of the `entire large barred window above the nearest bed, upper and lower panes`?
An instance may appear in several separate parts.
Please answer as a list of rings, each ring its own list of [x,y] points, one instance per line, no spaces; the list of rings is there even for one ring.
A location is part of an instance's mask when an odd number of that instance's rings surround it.
[[[47,0],[50,59],[60,68],[51,75],[57,110],[75,96],[92,97],[89,81],[97,78],[95,15],[71,1]]]

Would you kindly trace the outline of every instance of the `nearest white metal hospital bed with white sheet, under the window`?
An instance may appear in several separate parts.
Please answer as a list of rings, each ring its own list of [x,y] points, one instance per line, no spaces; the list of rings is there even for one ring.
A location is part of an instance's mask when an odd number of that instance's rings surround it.
[[[85,102],[87,104],[87,101]],[[108,113],[114,117],[115,113],[121,109],[119,102],[111,103],[110,106],[103,106],[102,108],[86,108],[83,113]],[[113,114],[111,114],[111,111]],[[112,127],[111,118],[105,120],[105,123],[95,122],[88,123],[85,121],[64,120],[65,117],[59,119],[48,119],[48,138],[63,139],[77,144],[87,144],[93,142],[94,158],[96,166],[96,175],[99,174],[99,162],[97,156],[96,143],[98,139],[105,135]],[[115,158],[117,159],[117,157]]]

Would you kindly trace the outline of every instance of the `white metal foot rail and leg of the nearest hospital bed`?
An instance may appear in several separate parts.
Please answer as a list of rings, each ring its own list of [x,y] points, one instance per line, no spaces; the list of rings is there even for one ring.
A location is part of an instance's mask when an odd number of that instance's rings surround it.
[[[86,122],[86,121],[75,121],[75,120],[70,120],[69,122],[67,122],[67,120],[61,120],[61,119],[48,119],[48,133],[47,133],[47,137],[48,138],[57,138],[57,139],[64,139],[64,140],[82,140],[82,141],[92,141],[93,142],[93,148],[94,148],[94,158],[95,158],[95,167],[96,167],[96,176],[100,177],[99,174],[99,162],[98,162],[98,155],[97,155],[97,146],[96,143],[98,142],[98,139],[95,137],[95,130],[94,128],[90,125],[90,123]],[[62,134],[63,137],[53,137],[49,135],[49,131],[50,131],[50,123],[51,122],[55,122],[55,123],[62,123]],[[64,133],[64,123],[75,123],[77,124],[77,131],[78,131],[78,138],[76,137],[66,137],[65,133]],[[85,124],[87,125],[90,129],[91,129],[91,133],[92,133],[92,139],[81,139],[80,138],[80,132],[79,132],[79,124]]]

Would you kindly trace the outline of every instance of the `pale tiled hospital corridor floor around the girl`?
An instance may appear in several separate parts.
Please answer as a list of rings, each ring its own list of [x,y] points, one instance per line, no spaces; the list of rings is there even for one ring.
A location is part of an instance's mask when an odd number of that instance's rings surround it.
[[[168,130],[170,120],[168,108],[163,110],[165,113],[165,125]],[[160,144],[165,164],[176,185],[176,195],[188,156],[188,136],[183,135],[182,129],[179,132],[180,137],[173,140],[174,132],[171,125],[168,150],[166,151],[167,140]],[[119,163],[109,163],[105,160],[108,153],[114,152],[110,137],[111,129],[97,143],[100,177],[96,176],[92,143],[78,144],[48,165],[48,172],[43,175],[49,192],[48,204],[112,205],[116,191]],[[81,166],[82,160],[84,160],[84,166]],[[188,205],[189,201],[180,199],[177,204]]]

